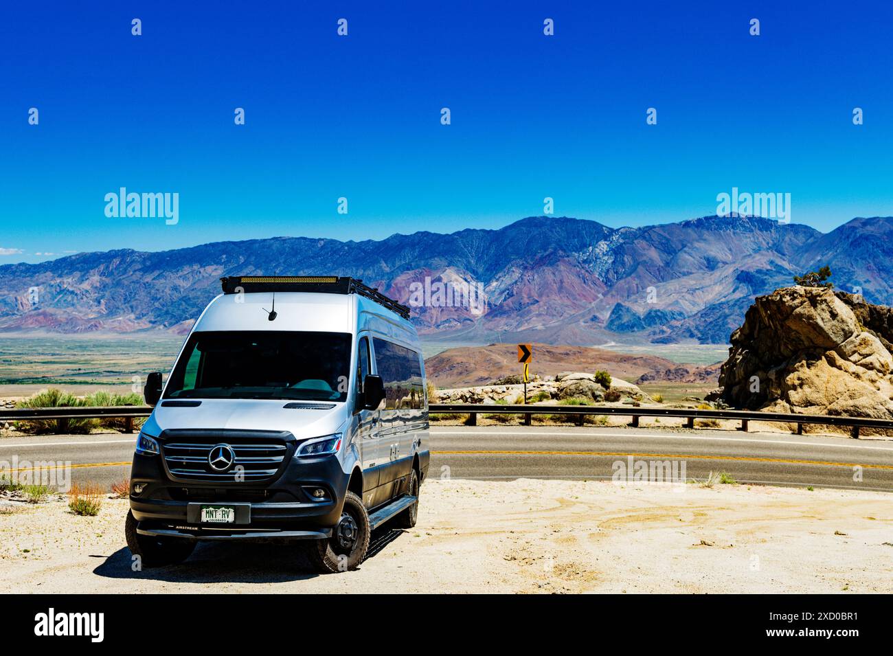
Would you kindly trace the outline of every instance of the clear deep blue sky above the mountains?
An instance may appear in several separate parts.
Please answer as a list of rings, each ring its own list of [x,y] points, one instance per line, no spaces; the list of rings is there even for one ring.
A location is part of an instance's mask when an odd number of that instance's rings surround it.
[[[545,196],[613,227],[731,187],[824,231],[893,214],[889,3],[68,4],[0,21],[0,263],[497,228]],[[120,187],[179,223],[106,217]]]

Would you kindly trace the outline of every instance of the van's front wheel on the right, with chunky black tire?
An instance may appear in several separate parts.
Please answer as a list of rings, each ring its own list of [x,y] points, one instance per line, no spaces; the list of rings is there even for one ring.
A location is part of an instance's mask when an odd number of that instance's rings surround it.
[[[310,545],[308,555],[313,566],[323,574],[357,569],[369,549],[369,513],[363,499],[348,492],[344,498],[341,519],[328,540]]]

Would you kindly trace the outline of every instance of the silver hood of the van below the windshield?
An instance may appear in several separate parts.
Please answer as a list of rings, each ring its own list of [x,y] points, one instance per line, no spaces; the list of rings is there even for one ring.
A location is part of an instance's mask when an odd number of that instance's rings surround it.
[[[197,405],[196,405],[197,403]],[[337,433],[347,419],[346,403],[272,399],[164,400],[146,419],[143,431],[159,436],[173,428],[288,430],[297,439]]]

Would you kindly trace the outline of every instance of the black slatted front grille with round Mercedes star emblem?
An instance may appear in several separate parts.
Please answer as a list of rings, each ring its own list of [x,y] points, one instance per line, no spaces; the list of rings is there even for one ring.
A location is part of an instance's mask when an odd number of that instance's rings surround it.
[[[221,444],[229,446],[234,456],[232,464],[223,470],[213,468],[208,458]],[[171,435],[169,441],[162,444],[164,464],[171,477],[219,483],[251,483],[274,477],[288,457],[288,451],[285,440],[272,438],[269,433],[258,436],[256,442],[246,440],[244,432],[238,435]]]

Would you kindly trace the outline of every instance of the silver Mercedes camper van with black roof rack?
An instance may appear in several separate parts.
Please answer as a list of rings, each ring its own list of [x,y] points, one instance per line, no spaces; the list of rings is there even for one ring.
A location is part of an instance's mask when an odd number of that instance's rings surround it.
[[[338,277],[221,278],[138,436],[125,533],[146,567],[199,540],[303,540],[355,569],[370,532],[413,527],[429,468],[409,309]]]

